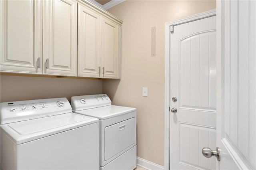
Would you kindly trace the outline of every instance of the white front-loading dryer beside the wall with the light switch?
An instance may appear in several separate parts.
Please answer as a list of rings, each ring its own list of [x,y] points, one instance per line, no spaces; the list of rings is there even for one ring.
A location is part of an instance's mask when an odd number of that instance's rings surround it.
[[[74,113],[100,120],[100,169],[133,170],[137,164],[136,109],[111,105],[106,94],[71,97]]]

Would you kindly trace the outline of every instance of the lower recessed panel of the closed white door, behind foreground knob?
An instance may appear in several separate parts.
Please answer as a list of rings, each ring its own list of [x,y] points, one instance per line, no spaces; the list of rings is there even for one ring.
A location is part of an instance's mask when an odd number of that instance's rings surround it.
[[[205,146],[216,146],[216,129],[181,122],[178,126],[180,164],[194,168],[216,169],[216,161],[214,159],[207,159],[201,152],[198,152]]]

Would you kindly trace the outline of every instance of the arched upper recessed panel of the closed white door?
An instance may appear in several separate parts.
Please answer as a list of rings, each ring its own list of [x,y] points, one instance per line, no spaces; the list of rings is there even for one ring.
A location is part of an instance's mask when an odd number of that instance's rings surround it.
[[[180,40],[180,107],[216,110],[214,49],[215,31],[203,32]]]

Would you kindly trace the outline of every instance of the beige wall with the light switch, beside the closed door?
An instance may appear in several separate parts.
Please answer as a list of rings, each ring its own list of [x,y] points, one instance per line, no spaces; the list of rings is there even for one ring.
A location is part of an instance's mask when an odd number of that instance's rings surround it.
[[[103,93],[114,105],[137,108],[138,157],[164,166],[165,23],[215,8],[215,0],[126,0],[108,10],[124,21],[122,79],[103,80]],[[151,57],[154,26],[156,56]],[[148,97],[142,97],[142,87],[148,87]]]

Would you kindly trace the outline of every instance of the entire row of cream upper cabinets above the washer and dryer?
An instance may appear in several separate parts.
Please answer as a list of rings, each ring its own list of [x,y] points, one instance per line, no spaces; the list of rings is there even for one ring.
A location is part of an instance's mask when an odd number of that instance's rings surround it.
[[[0,72],[120,78],[122,21],[88,0],[0,0]]]

